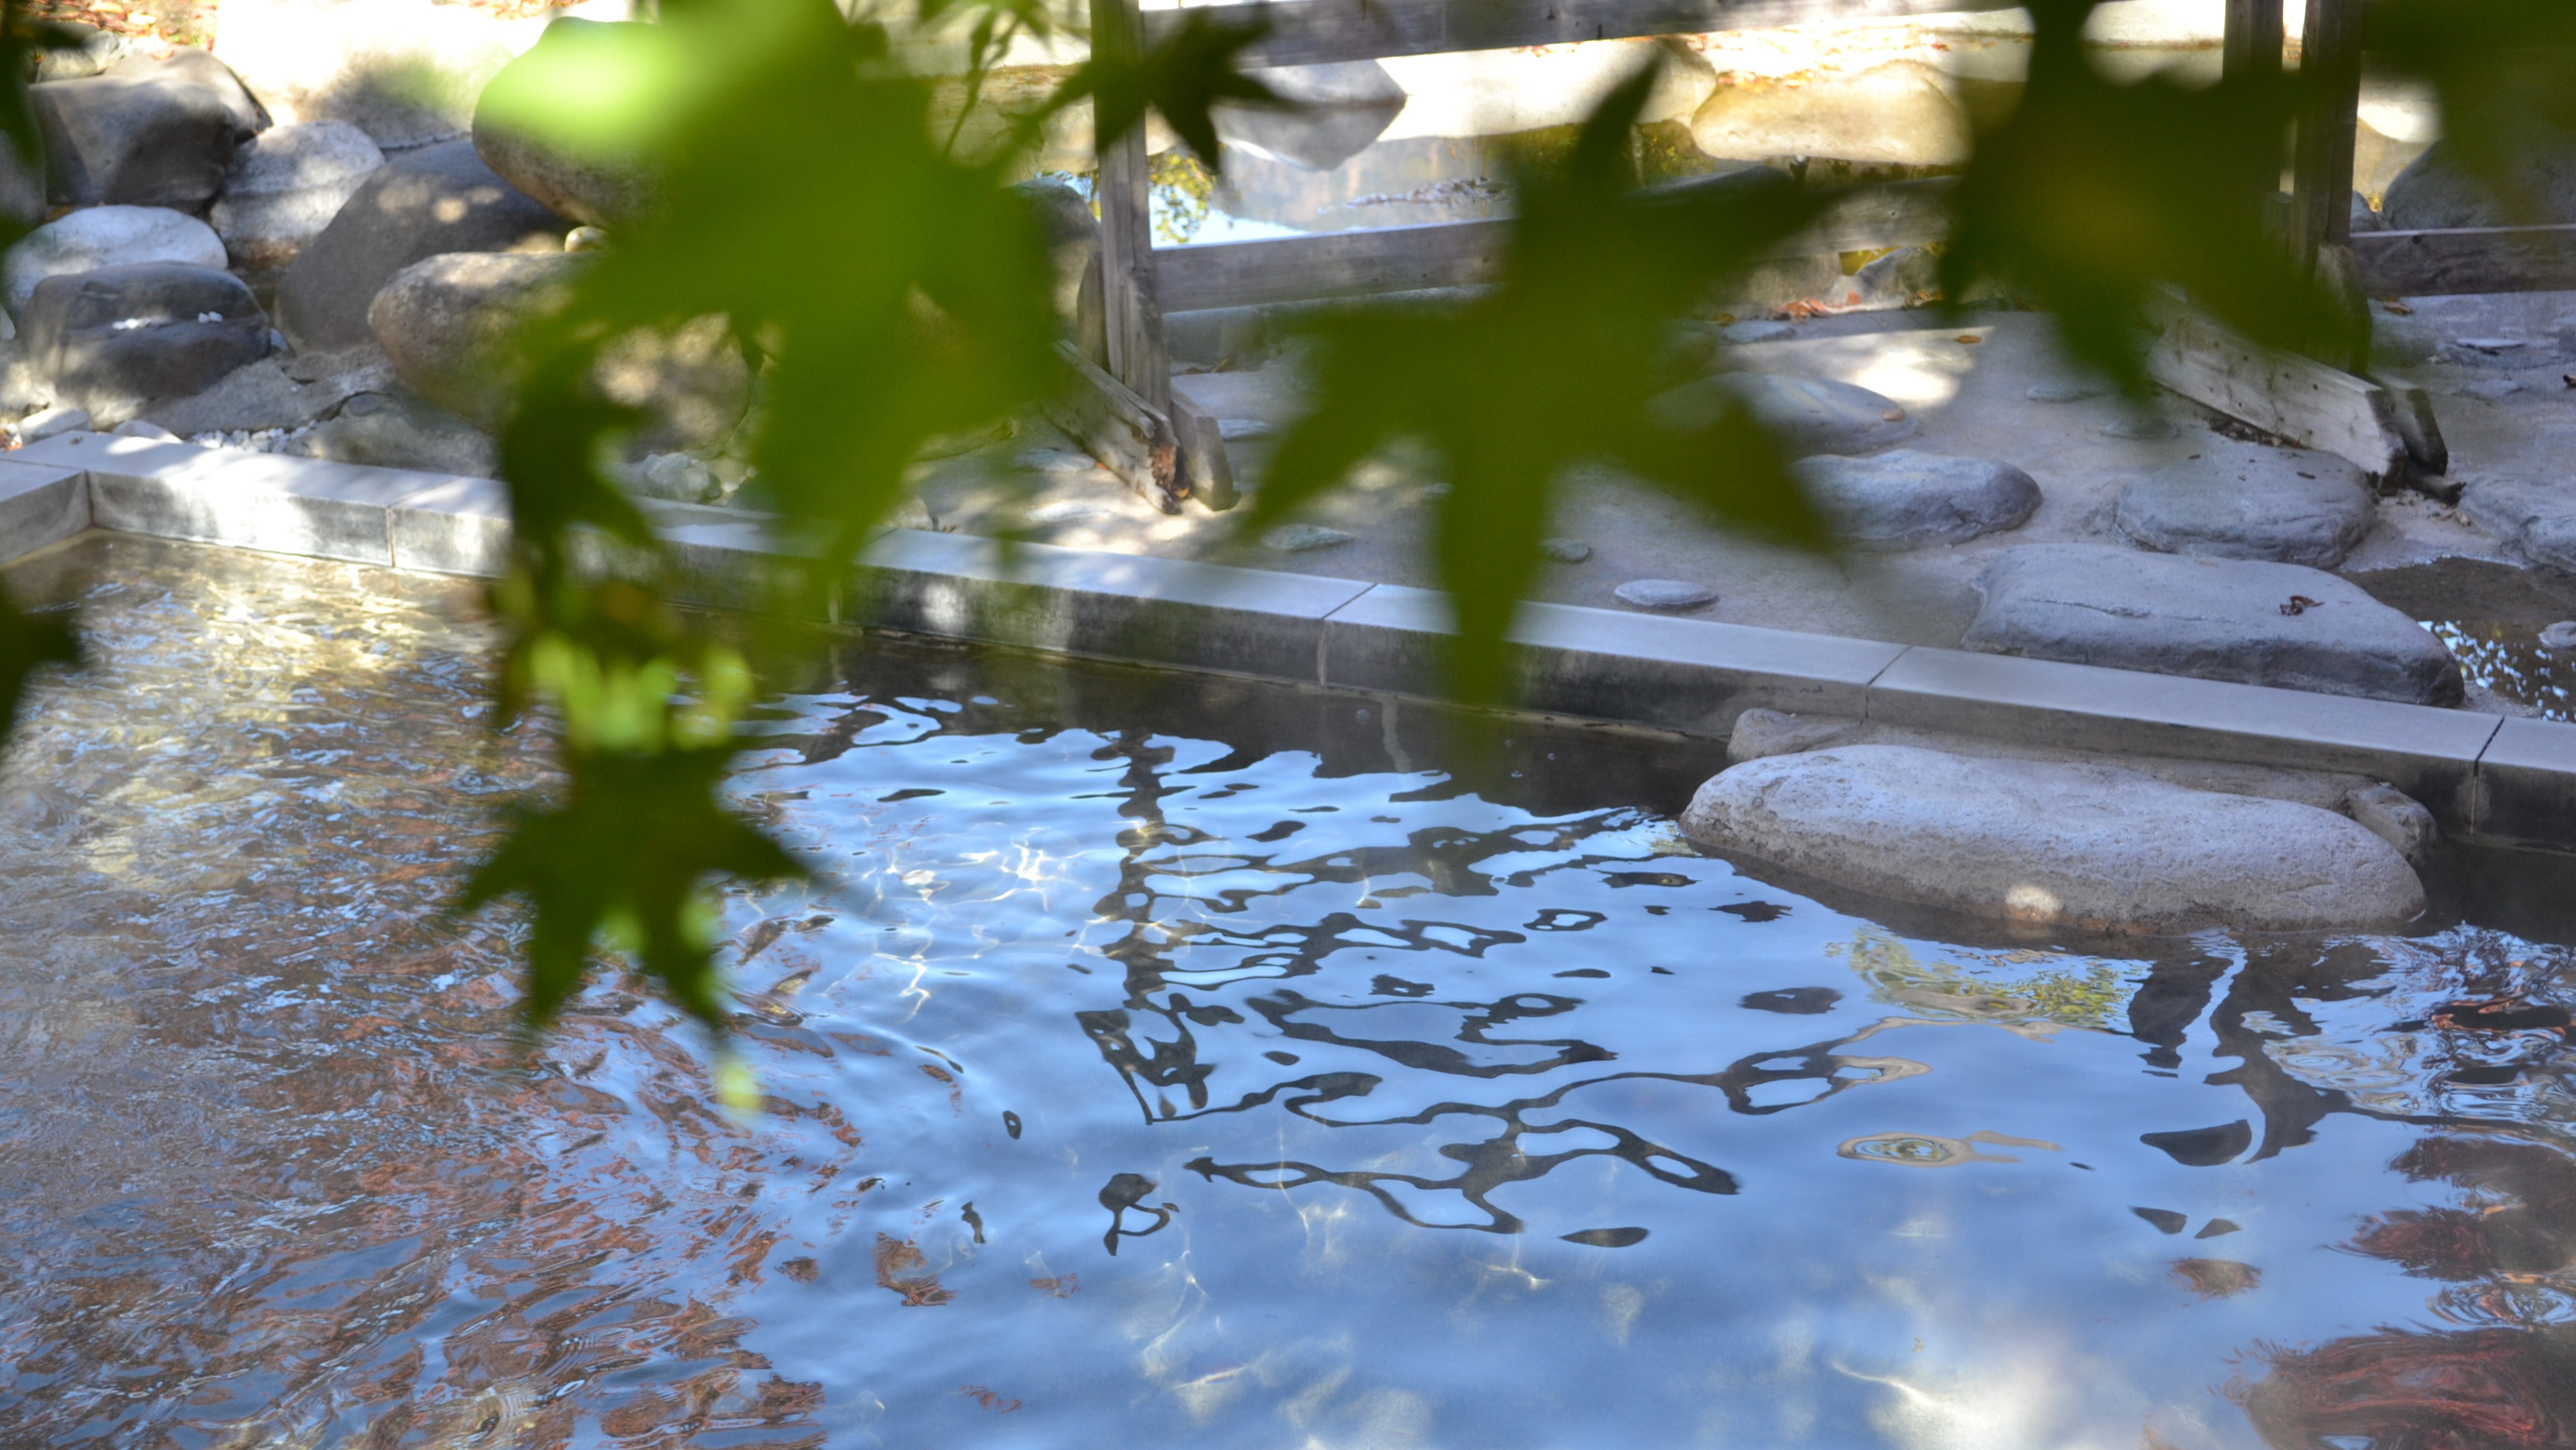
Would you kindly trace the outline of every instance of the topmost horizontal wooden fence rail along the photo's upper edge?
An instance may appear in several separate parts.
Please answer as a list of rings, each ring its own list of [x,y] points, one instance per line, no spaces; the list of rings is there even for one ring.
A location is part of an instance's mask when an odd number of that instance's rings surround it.
[[[1267,26],[1242,52],[1242,64],[1262,67],[2017,8],[2017,0],[1252,0],[1151,10],[1144,33],[1159,44],[1188,15]]]

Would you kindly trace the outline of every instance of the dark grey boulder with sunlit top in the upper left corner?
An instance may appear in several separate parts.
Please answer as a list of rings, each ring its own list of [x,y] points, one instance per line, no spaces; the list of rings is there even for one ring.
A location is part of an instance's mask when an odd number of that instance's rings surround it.
[[[201,49],[44,80],[28,88],[28,103],[57,206],[196,211],[222,191],[232,149],[268,124],[224,62]]]

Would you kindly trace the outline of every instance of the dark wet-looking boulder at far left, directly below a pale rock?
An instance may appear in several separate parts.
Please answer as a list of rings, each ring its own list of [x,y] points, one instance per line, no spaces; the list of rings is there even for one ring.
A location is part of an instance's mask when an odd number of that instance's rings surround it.
[[[108,425],[268,355],[268,314],[214,268],[98,268],[36,283],[26,345],[57,402]]]

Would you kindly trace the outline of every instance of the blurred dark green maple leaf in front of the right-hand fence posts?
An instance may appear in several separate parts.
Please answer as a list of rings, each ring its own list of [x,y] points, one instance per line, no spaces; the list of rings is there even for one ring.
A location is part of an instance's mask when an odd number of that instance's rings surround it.
[[[2349,314],[2264,232],[2257,180],[2280,175],[2293,82],[2123,85],[2084,54],[2092,0],[2030,13],[2030,85],[1958,183],[1942,291],[2030,296],[2079,361],[2130,391],[2148,389],[2138,330],[2156,283],[2259,343],[2349,350]]]

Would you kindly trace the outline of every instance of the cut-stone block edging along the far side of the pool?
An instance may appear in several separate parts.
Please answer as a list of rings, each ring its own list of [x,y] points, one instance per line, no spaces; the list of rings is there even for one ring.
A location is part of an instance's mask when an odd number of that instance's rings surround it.
[[[760,603],[770,515],[644,507],[690,603]],[[103,433],[0,456],[0,561],[88,528],[489,577],[510,507],[492,479]],[[1005,559],[992,538],[907,528],[868,546],[840,608],[907,634],[1391,695],[1430,693],[1448,634],[1432,590],[1048,543]],[[2349,770],[2447,832],[2576,850],[2576,724],[1579,605],[1525,605],[1512,639],[1522,708],[1548,716],[1723,739],[1759,706]]]

